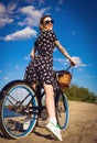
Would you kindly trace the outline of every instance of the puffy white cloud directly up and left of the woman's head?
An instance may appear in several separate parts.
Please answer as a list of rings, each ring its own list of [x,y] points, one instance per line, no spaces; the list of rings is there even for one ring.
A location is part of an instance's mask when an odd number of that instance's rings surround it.
[[[41,10],[35,9],[33,6],[23,7],[20,9],[20,12],[25,15],[23,22],[19,22],[19,25],[28,25],[28,26],[37,26],[39,20],[41,19],[42,14],[48,8],[43,8]]]

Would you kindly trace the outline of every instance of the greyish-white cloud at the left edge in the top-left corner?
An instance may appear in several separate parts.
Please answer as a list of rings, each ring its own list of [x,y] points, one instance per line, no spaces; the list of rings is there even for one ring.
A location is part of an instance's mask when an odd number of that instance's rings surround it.
[[[15,3],[10,3],[7,7],[3,3],[0,3],[0,26],[4,26],[6,24],[10,24],[13,22],[12,14],[17,9]]]

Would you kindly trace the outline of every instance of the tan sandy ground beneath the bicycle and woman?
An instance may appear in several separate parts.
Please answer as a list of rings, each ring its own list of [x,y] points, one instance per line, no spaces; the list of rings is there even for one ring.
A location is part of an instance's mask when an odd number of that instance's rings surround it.
[[[69,101],[69,124],[62,132],[64,143],[97,143],[97,105]],[[36,127],[29,136],[20,140],[6,139],[0,133],[0,143],[58,143],[45,130]]]

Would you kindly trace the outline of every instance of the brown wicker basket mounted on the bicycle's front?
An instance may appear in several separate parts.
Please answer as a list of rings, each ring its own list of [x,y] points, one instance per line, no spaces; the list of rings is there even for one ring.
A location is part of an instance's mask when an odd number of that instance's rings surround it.
[[[69,72],[64,72],[63,74],[58,74],[58,84],[61,89],[68,88],[71,84],[72,75]]]

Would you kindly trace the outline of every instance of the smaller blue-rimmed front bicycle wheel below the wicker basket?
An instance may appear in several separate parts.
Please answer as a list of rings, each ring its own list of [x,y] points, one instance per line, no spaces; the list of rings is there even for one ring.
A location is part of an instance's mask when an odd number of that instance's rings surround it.
[[[67,98],[62,90],[56,95],[55,105],[58,125],[62,130],[66,130],[69,120],[69,110]]]

